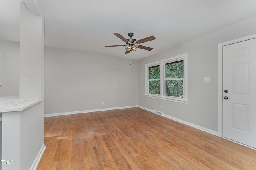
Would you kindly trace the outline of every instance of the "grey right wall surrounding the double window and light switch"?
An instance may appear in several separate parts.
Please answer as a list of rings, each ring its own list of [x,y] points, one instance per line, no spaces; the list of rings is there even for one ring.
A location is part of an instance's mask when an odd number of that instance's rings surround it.
[[[256,17],[141,59],[139,106],[218,132],[218,44],[252,34],[256,34]],[[188,54],[188,103],[144,96],[145,64],[184,53]],[[204,82],[204,77],[210,77],[210,82]]]

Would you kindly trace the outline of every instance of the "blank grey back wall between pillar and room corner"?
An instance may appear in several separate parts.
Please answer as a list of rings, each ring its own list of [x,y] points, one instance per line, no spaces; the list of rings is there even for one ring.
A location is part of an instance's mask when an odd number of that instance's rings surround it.
[[[44,55],[44,114],[138,105],[138,60],[52,47]]]

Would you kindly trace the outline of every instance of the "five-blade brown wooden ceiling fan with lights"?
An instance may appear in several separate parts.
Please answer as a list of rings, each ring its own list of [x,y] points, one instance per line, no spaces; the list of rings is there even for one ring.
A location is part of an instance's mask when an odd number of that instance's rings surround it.
[[[118,34],[118,33],[114,33],[114,35],[116,35],[116,37],[122,39],[126,43],[126,45],[109,45],[109,46],[105,46],[105,47],[125,46],[125,49],[126,49],[125,54],[130,53],[130,51],[135,51],[137,48],[151,51],[153,48],[146,47],[146,46],[139,45],[139,44],[156,39],[154,36],[150,36],[150,37],[146,37],[146,38],[143,38],[140,40],[136,40],[136,39],[132,38],[133,33],[128,33],[128,36],[130,37],[128,39],[124,38],[121,34]]]

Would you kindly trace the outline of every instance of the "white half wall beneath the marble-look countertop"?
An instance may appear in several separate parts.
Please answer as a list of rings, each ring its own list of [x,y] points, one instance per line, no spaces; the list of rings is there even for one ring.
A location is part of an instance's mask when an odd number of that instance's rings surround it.
[[[29,170],[44,146],[43,101],[23,111],[3,113],[3,170]]]

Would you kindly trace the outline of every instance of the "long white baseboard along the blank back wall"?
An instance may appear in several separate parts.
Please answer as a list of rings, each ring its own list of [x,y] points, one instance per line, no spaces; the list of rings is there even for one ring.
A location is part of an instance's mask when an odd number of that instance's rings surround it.
[[[116,109],[128,109],[128,108],[133,108],[133,107],[138,107],[138,105],[136,105],[136,106],[124,106],[124,107],[112,107],[112,108],[106,108],[106,109],[72,111],[72,112],[64,112],[64,113],[51,113],[51,114],[44,114],[44,117],[73,115],[73,114],[80,114],[80,113],[90,113],[90,112],[96,112],[96,111],[108,111],[108,110],[116,110]]]

